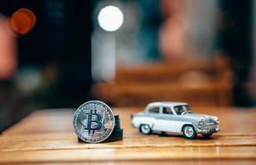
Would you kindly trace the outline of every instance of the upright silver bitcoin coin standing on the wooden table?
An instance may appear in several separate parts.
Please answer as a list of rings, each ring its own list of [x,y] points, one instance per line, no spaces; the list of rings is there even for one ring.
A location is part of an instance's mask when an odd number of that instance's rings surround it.
[[[114,113],[102,101],[88,101],[75,111],[73,125],[80,139],[99,143],[114,130]]]

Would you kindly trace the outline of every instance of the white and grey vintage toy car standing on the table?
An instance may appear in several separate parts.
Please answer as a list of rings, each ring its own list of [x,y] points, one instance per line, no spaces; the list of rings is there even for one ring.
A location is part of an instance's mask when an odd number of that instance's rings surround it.
[[[133,114],[132,123],[142,134],[157,130],[183,133],[186,139],[196,139],[197,134],[209,138],[220,131],[218,117],[196,114],[186,102],[152,102],[144,111]]]

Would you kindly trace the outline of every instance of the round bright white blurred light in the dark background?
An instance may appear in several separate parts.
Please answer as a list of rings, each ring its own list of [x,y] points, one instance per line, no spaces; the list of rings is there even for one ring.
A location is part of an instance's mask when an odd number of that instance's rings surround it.
[[[123,25],[123,12],[118,7],[104,7],[99,11],[98,21],[105,31],[117,31]]]

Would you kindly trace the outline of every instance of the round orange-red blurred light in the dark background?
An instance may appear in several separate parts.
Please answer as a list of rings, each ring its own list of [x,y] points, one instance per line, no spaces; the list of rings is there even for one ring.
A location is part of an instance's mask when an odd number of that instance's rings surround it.
[[[10,21],[12,29],[19,34],[24,35],[28,31],[31,31],[33,26],[35,26],[36,16],[31,10],[20,8],[13,12]]]

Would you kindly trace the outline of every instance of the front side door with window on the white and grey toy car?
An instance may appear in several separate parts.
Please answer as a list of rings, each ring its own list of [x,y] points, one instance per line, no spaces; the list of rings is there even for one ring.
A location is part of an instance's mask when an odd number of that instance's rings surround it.
[[[176,121],[176,114],[173,113],[171,107],[162,106],[157,118],[157,129],[165,132],[180,132],[179,125],[179,121]]]

